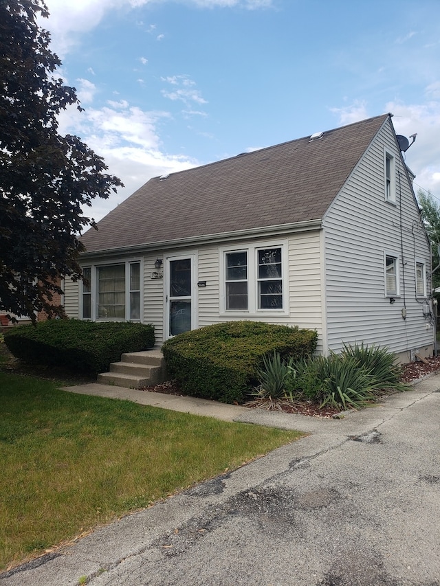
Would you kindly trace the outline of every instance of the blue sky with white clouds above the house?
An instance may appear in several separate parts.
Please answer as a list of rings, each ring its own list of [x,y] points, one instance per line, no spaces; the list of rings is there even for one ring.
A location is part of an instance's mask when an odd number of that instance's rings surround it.
[[[439,0],[46,0],[63,113],[125,188],[393,113],[416,190],[440,201]]]

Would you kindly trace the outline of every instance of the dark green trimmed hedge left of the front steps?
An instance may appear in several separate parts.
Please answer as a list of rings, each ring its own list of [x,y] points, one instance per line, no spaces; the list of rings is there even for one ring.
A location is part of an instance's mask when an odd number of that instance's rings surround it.
[[[23,362],[94,374],[107,372],[123,352],[140,352],[154,343],[154,326],[131,322],[49,319],[5,333],[6,346]]]

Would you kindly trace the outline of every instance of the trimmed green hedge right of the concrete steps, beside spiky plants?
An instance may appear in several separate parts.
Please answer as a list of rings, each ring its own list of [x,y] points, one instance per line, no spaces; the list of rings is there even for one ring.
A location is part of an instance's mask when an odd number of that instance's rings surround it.
[[[318,335],[297,326],[223,322],[179,334],[162,346],[168,374],[192,396],[243,403],[263,358],[273,352],[295,360],[310,356]]]

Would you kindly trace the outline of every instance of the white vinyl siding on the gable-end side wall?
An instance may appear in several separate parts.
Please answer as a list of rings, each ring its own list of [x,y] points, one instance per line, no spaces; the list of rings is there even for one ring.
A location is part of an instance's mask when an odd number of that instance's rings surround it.
[[[394,144],[387,122],[324,218],[329,350],[339,352],[344,342],[364,341],[403,353],[433,341],[416,299],[413,261],[417,251],[419,260],[430,267],[430,251]],[[393,206],[384,201],[384,152],[393,156],[400,175]],[[399,297],[393,304],[385,295],[388,253],[399,257]]]

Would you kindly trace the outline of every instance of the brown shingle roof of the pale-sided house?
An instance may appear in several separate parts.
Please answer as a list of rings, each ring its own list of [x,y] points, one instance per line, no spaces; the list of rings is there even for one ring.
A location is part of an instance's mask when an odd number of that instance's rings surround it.
[[[81,240],[104,251],[318,221],[388,116],[150,179]]]

